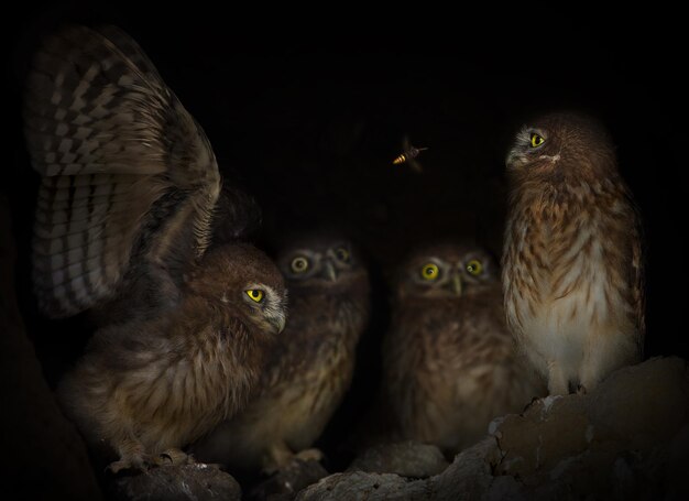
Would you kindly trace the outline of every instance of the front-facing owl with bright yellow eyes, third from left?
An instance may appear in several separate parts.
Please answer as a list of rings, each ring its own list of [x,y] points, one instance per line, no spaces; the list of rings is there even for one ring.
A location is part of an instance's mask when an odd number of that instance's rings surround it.
[[[394,277],[383,339],[383,400],[396,439],[453,455],[490,422],[545,394],[505,324],[500,271],[479,247],[430,244]]]

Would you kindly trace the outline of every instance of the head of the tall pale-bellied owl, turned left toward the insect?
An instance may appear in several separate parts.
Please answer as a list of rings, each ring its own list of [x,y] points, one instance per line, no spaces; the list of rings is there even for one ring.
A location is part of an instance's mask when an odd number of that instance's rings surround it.
[[[546,115],[523,126],[505,163],[508,172],[525,177],[595,176],[615,168],[605,129],[593,118],[573,112]]]

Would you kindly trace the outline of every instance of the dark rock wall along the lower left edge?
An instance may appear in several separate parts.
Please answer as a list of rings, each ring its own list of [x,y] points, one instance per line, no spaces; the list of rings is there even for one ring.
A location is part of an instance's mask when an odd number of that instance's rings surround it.
[[[14,293],[14,263],[8,204],[0,196],[2,491],[19,499],[99,500],[86,446],[59,411],[26,336]]]

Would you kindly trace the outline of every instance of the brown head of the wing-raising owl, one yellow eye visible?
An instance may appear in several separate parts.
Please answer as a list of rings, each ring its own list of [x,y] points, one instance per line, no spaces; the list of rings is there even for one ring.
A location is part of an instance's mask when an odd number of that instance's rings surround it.
[[[187,287],[206,304],[261,331],[280,334],[285,328],[284,279],[275,263],[253,246],[233,243],[209,250]]]

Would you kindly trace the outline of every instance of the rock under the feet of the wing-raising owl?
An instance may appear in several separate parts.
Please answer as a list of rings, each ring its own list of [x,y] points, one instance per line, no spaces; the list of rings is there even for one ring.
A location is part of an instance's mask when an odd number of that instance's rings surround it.
[[[144,473],[118,477],[117,501],[239,501],[242,491],[234,478],[215,465],[196,462],[151,468]]]

